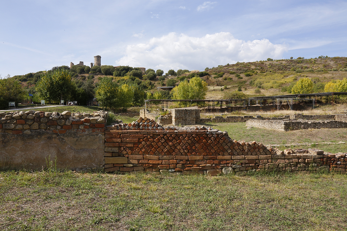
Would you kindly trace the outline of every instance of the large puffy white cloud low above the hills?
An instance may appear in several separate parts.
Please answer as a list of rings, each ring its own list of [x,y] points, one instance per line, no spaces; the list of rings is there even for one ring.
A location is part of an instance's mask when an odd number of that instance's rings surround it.
[[[230,33],[221,32],[201,38],[169,33],[153,37],[146,43],[128,45],[125,55],[116,65],[129,65],[153,69],[203,70],[207,66],[226,63],[280,59],[288,51],[286,44],[272,44],[268,39],[243,41]]]

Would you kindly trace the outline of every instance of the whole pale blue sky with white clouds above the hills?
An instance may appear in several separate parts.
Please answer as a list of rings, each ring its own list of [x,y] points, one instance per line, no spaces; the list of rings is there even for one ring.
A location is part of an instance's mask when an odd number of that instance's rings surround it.
[[[347,51],[347,1],[338,0],[11,0],[0,19],[2,77],[95,55],[167,72]]]

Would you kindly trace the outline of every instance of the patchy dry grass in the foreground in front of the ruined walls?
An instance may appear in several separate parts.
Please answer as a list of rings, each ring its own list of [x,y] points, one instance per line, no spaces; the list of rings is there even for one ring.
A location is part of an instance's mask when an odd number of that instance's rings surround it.
[[[1,230],[346,230],[345,175],[0,172]]]

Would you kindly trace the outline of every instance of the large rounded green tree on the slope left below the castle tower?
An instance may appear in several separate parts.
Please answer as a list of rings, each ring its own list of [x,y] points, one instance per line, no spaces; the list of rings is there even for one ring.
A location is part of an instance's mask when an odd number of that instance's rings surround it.
[[[60,100],[72,98],[76,87],[71,81],[68,70],[54,70],[44,73],[35,85],[39,97],[48,103],[59,103]]]

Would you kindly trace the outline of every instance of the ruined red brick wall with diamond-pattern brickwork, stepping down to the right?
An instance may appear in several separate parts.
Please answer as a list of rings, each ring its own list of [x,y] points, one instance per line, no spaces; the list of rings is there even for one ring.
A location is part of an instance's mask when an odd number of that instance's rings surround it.
[[[280,121],[279,121],[280,122]],[[230,139],[205,127],[178,130],[139,118],[105,130],[105,171],[181,174],[238,174],[255,171],[337,171],[346,173],[346,155],[321,150],[279,151],[255,141]],[[342,161],[342,162],[341,162]]]

